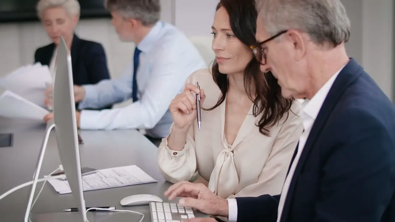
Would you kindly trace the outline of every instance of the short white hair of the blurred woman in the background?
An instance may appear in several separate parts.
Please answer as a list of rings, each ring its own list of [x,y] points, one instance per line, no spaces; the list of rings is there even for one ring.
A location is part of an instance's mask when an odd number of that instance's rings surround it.
[[[64,8],[70,16],[79,16],[81,10],[77,0],[40,0],[36,6],[38,17],[42,19],[46,9],[55,7]]]

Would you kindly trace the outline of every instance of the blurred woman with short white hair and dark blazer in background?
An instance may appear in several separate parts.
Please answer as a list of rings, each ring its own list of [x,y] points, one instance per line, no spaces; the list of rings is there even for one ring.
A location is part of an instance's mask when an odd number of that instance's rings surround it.
[[[40,0],[37,13],[52,43],[36,50],[35,63],[49,66],[53,73],[56,47],[63,36],[71,53],[74,85],[96,84],[110,78],[103,46],[80,39],[74,33],[80,15],[77,0]]]

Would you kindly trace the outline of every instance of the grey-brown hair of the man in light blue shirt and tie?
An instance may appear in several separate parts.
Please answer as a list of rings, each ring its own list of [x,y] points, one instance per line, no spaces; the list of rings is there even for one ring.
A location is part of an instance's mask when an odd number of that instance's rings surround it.
[[[137,19],[143,25],[152,25],[160,19],[159,0],[106,0],[105,7],[124,18]]]

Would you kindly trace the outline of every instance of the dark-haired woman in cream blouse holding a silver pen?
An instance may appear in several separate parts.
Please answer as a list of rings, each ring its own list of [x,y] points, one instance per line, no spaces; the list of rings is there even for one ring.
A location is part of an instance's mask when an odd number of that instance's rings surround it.
[[[261,73],[250,48],[256,44],[254,0],[239,2],[218,4],[212,70],[192,73],[171,102],[174,122],[158,148],[167,181],[203,182],[222,198],[279,194],[303,131],[295,115],[300,103],[281,96],[276,79]],[[194,96],[199,92],[201,130]]]

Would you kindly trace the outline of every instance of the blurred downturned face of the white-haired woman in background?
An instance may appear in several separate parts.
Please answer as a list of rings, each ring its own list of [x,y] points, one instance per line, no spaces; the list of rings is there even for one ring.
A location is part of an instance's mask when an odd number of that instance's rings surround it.
[[[78,16],[71,17],[62,7],[48,8],[43,11],[42,23],[53,43],[58,45],[60,36],[63,36],[66,43],[70,44]]]

